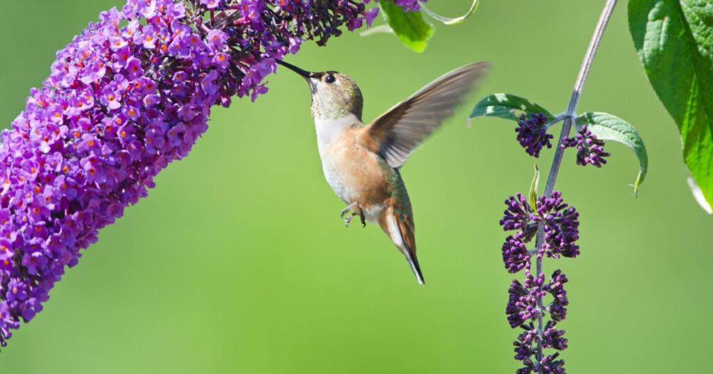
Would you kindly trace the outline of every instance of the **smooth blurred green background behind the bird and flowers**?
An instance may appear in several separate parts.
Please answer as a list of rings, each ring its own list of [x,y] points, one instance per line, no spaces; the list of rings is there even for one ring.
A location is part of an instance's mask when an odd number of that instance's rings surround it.
[[[575,4],[576,3],[576,4]],[[403,169],[428,285],[416,284],[381,229],[339,219],[322,176],[301,78],[281,69],[256,103],[217,109],[210,130],[158,187],[101,232],[0,355],[3,373],[513,373],[504,313],[513,276],[498,226],[533,159],[514,124],[478,119],[487,93],[565,110],[604,1],[482,0],[439,26],[425,53],[393,36],[307,43],[289,61],[361,85],[370,119],[457,66],[495,68],[468,105]],[[0,122],[9,126],[54,53],[121,0],[3,4]],[[468,0],[429,1],[441,14]],[[609,145],[602,169],[568,154],[557,189],[581,212],[582,255],[545,261],[570,278],[563,353],[571,373],[709,372],[712,218],[686,184],[677,129],[645,78],[616,9],[580,102],[634,124],[650,175]],[[380,23],[383,20],[379,19]],[[543,152],[547,171],[553,152]],[[522,274],[518,274],[521,277]]]

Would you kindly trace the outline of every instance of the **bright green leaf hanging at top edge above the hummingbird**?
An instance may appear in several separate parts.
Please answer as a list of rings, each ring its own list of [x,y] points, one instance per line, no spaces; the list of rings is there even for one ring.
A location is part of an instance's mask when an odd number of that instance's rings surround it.
[[[426,49],[426,43],[436,28],[426,22],[420,11],[404,11],[391,0],[379,1],[379,8],[401,43],[416,52]]]

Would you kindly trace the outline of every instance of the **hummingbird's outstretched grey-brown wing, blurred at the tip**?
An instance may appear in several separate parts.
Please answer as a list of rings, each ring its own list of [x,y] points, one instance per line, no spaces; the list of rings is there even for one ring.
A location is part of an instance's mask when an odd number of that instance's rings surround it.
[[[373,141],[374,151],[379,152],[389,166],[401,167],[421,140],[453,114],[454,108],[489,66],[487,62],[473,63],[434,80],[376,118],[364,128],[364,136]]]

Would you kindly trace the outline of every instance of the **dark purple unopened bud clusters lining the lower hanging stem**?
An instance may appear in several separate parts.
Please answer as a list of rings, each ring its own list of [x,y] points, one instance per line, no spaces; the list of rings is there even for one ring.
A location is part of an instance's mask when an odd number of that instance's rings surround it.
[[[533,256],[542,261],[544,256],[559,258],[579,254],[579,246],[575,244],[579,239],[579,214],[563,201],[562,194],[557,191],[550,197],[536,199],[534,207],[520,193],[509,197],[505,204],[507,209],[500,224],[506,231],[517,232],[508,236],[503,244],[503,261],[511,273],[525,269],[525,281],[520,283],[515,279],[508,289],[506,306],[510,326],[520,326],[525,330],[513,342],[515,359],[523,362],[517,373],[565,373],[564,361],[558,359],[558,353],[545,356],[542,350],[567,348],[565,331],[556,328],[556,325],[567,316],[569,301],[563,285],[568,279],[562,271],[556,270],[545,283],[544,274],[533,274],[531,266]],[[528,250],[527,243],[532,241],[540,227],[544,233],[542,245]],[[543,299],[548,295],[552,301],[545,305]],[[543,326],[546,313],[550,321]],[[540,328],[535,328],[533,321],[538,321]]]

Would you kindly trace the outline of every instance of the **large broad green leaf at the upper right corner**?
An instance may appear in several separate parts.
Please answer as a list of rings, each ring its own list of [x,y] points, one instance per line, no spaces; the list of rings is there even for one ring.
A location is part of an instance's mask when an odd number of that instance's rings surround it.
[[[629,28],[658,98],[681,133],[684,162],[713,202],[713,4],[630,0]]]

